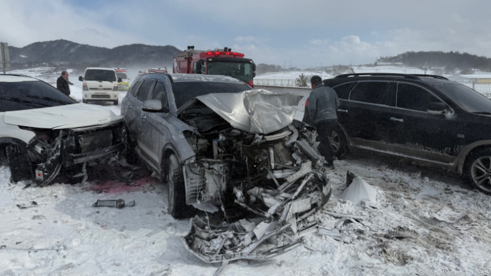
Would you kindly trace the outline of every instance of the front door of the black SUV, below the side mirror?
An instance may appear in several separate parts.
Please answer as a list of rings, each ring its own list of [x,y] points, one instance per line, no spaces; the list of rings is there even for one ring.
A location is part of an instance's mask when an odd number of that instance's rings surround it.
[[[394,144],[402,155],[452,163],[454,146],[458,144],[457,134],[463,125],[456,120],[450,107],[446,114],[427,112],[428,104],[434,102],[445,103],[423,86],[398,83],[396,108],[391,117],[396,123]]]

